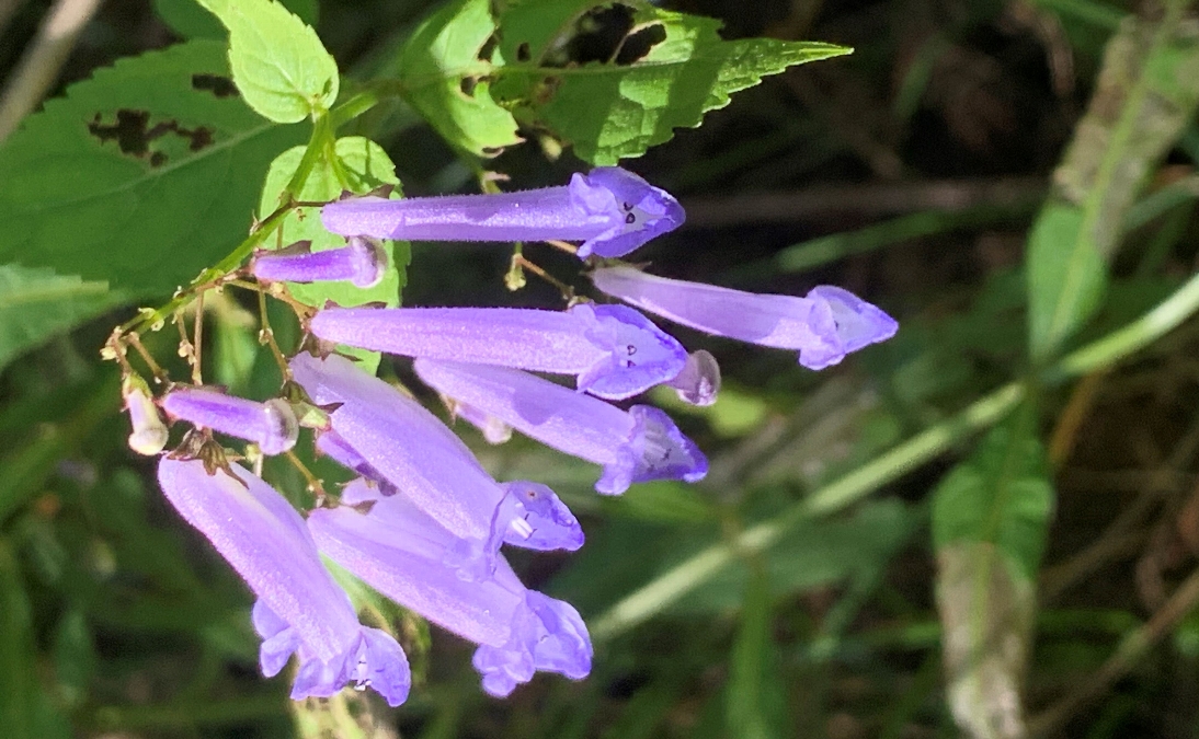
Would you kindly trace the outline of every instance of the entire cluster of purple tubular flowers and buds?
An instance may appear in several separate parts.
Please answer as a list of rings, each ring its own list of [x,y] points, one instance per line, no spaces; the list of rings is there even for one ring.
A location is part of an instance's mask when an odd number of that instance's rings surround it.
[[[165,447],[159,408],[195,429],[161,459],[158,481],[257,595],[253,623],[265,676],[295,655],[295,698],[347,685],[369,686],[392,705],[408,695],[403,649],[359,622],[323,556],[477,643],[474,666],[493,696],[508,695],[538,671],[582,679],[591,667],[578,612],[528,589],[501,552],[505,545],[578,550],[579,521],[549,487],[493,478],[436,416],[337,353],[337,345],[411,357],[421,381],[488,441],[517,430],[598,465],[595,489],[620,495],[646,480],[700,480],[707,460],[663,411],[609,401],[661,384],[707,405],[721,383],[712,355],[688,353],[635,308],[710,334],[796,350],[811,369],[896,332],[890,316],[838,287],[815,287],[806,297],[752,295],[653,277],[610,259],[682,218],[674,198],[619,168],[523,193],[332,202],[321,223],[345,236],[345,247],[261,252],[246,272],[261,284],[367,287],[386,267],[373,240],[574,240],[584,242],[580,258],[609,258],[589,262],[596,287],[632,307],[579,299],[566,310],[326,305],[302,316],[312,340],[287,363],[281,396],[265,402],[204,386],[171,386],[156,400],[145,382],[128,376],[134,450]],[[576,389],[531,372],[573,376]],[[312,429],[320,454],[354,475],[306,516],[211,437],[246,440],[257,454],[290,454],[302,428]]]

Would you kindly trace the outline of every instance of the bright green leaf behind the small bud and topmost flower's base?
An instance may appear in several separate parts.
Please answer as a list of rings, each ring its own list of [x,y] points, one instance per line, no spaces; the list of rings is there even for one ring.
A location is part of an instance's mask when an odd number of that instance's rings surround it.
[[[296,166],[303,157],[303,146],[290,149],[279,155],[271,164],[263,186],[263,212],[272,210],[279,201],[279,194],[291,180],[291,175],[295,174]],[[387,152],[378,144],[362,137],[347,137],[337,140],[335,151],[336,166],[335,163],[321,160],[308,175],[303,189],[296,195],[297,200],[333,200],[347,189],[363,194],[384,184],[396,187],[392,190],[392,198],[403,196],[399,180],[396,177],[396,166],[387,157]],[[319,208],[300,207],[289,213],[279,229],[276,246],[283,247],[303,240],[312,242],[313,252],[345,246],[343,237],[330,234],[320,225]],[[398,305],[411,252],[406,241],[384,242],[384,250],[387,254],[387,271],[382,280],[368,290],[355,287],[348,281],[288,283],[288,287],[296,299],[318,308],[329,301],[343,307],[364,303]],[[376,353],[364,352],[361,356],[373,358],[368,367],[378,365]]]

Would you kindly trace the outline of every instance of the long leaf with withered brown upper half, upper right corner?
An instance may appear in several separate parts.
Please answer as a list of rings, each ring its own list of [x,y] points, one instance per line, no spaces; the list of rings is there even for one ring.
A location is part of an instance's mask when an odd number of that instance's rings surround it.
[[[1050,358],[1102,304],[1125,216],[1199,107],[1199,35],[1175,2],[1111,37],[1090,108],[1029,235],[1029,346]]]

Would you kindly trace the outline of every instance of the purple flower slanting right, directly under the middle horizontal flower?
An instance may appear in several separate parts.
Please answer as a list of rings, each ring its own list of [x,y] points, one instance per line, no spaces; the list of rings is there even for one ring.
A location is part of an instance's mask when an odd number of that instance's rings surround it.
[[[707,474],[707,459],[658,408],[621,411],[520,370],[434,359],[417,359],[414,368],[439,393],[548,447],[602,465],[596,490],[604,495],[620,495],[632,483],[694,483]]]

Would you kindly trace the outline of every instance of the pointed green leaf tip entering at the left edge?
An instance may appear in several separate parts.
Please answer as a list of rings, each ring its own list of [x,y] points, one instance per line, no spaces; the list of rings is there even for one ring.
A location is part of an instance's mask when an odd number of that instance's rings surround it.
[[[0,265],[0,369],[16,356],[121,302],[104,283]]]

